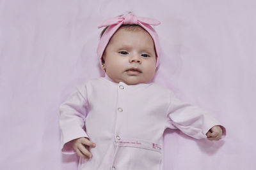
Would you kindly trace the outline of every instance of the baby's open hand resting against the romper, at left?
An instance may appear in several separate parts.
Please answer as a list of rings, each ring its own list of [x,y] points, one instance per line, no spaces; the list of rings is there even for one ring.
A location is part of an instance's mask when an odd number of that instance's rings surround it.
[[[89,147],[95,148],[95,143],[92,143],[88,138],[77,138],[70,141],[71,146],[79,157],[84,159],[92,158],[92,153],[89,152]]]

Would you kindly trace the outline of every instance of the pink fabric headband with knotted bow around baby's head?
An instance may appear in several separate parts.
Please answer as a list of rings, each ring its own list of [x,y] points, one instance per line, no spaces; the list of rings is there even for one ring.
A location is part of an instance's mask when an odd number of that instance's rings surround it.
[[[160,46],[159,46],[159,41],[158,41],[158,36],[156,31],[150,26],[150,25],[159,25],[160,22],[158,20],[153,20],[150,18],[145,18],[145,17],[136,17],[135,15],[132,15],[131,13],[127,13],[126,15],[122,15],[121,17],[115,17],[115,18],[110,18],[108,20],[105,20],[101,25],[99,25],[98,28],[101,27],[108,27],[102,37],[100,38],[99,45],[97,48],[97,55],[100,59],[100,64],[102,64],[102,54],[108,45],[109,39],[115,34],[115,32],[118,30],[118,28],[122,24],[136,24],[140,25],[145,29],[152,39],[154,40],[154,45],[156,48],[156,67],[158,66],[159,62],[159,57],[160,57]]]

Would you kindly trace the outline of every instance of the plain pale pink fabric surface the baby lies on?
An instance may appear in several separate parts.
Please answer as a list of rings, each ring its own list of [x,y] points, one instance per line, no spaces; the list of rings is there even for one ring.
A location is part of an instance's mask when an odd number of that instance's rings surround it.
[[[221,141],[164,134],[164,169],[255,169],[255,1],[0,1],[0,169],[76,169],[61,155],[59,106],[102,76],[100,30],[132,11],[156,18],[155,81],[227,128]]]

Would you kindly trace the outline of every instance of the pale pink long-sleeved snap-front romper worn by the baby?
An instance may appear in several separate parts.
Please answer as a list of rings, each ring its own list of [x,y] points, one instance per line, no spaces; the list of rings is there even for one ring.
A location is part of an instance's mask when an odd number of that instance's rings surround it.
[[[156,83],[126,85],[107,76],[77,88],[60,106],[62,152],[75,153],[68,141],[76,138],[96,144],[92,159],[80,158],[81,170],[160,170],[166,128],[202,139],[214,125],[220,123]]]

